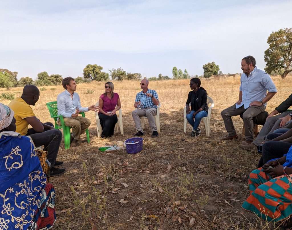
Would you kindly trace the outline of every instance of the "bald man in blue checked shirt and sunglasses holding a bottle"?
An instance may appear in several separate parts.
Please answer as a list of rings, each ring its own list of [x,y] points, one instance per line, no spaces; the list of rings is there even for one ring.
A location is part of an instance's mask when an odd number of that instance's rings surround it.
[[[154,116],[157,113],[157,105],[159,104],[158,95],[155,90],[148,89],[149,81],[143,79],[140,83],[142,89],[141,92],[137,93],[134,107],[138,108],[132,112],[132,116],[136,125],[137,133],[135,137],[143,136],[143,128],[141,125],[140,117],[147,116],[149,125],[152,130],[152,137],[158,137],[156,123]]]

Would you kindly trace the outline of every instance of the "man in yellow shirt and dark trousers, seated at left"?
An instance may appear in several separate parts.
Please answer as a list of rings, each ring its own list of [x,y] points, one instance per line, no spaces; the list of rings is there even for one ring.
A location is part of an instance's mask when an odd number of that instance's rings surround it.
[[[56,161],[62,132],[54,129],[52,123],[42,123],[36,118],[30,105],[35,105],[38,100],[39,89],[34,85],[26,85],[22,95],[12,100],[8,106],[14,111],[16,132],[22,136],[30,136],[36,147],[44,145],[44,150],[48,151],[48,161],[51,163],[51,176],[59,176],[66,171],[66,169],[55,168],[63,164],[62,161]],[[28,125],[32,128],[29,129]]]

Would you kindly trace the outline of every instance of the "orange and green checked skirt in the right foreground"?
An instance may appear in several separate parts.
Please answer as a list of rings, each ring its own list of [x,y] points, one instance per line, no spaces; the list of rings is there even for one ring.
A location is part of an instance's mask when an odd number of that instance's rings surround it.
[[[250,196],[242,208],[268,222],[284,220],[292,214],[292,175],[272,178],[263,168],[249,174]]]

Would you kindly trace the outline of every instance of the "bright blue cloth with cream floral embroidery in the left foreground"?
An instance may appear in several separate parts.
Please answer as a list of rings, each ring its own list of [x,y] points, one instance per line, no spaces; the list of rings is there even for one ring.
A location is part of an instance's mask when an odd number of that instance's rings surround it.
[[[32,141],[25,136],[1,135],[0,230],[26,230],[41,207],[45,187],[46,175]]]

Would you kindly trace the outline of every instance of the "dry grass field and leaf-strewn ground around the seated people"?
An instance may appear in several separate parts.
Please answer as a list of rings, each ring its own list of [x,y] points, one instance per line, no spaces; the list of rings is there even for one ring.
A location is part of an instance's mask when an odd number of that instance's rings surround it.
[[[291,77],[272,77],[278,93],[268,102],[269,113],[291,94]],[[122,104],[124,136],[97,137],[94,112],[90,143],[86,136],[77,147],[64,149],[58,160],[64,161],[66,174],[51,178],[56,190],[57,221],[53,229],[274,229],[241,208],[248,196],[248,174],[256,168],[260,155],[238,148],[241,141],[221,141],[227,135],[220,112],[238,100],[239,78],[202,79],[215,107],[211,114],[211,135],[190,137],[191,126],[183,132],[183,108],[190,91],[189,79],[150,82],[161,102],[159,137],[151,138],[148,121],[143,151],[102,153],[98,147],[131,138],[136,132],[131,112],[139,82],[114,82]],[[41,88],[41,87],[40,87]],[[42,121],[53,122],[45,103],[55,101],[64,89],[48,86],[33,107]],[[86,94],[88,90],[94,90]],[[10,91],[20,96],[22,88]],[[104,92],[104,82],[77,86],[82,106],[94,105]],[[8,104],[9,100],[1,101]],[[242,120],[234,117],[238,134]]]

